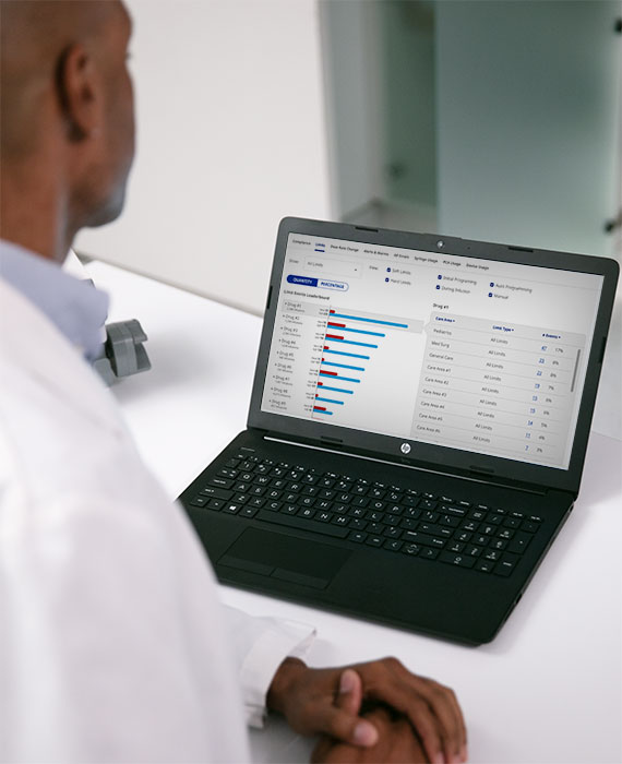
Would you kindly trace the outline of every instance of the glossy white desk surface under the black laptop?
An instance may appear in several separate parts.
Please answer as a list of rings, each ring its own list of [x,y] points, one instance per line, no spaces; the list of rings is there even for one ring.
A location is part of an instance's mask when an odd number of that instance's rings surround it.
[[[110,320],[136,318],[153,369],[115,394],[171,498],[246,426],[261,320],[91,263]],[[615,408],[620,403],[611,402]],[[454,688],[473,762],[622,762],[622,443],[593,432],[575,510],[497,640],[477,648],[364,623],[230,587],[256,614],[313,623],[309,662],[395,655]],[[256,762],[309,761],[312,741],[278,718],[251,732]]]

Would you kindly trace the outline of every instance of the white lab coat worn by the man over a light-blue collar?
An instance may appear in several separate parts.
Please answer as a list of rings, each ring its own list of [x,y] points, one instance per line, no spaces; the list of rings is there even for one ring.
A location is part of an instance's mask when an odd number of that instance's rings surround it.
[[[249,761],[312,630],[229,616],[109,391],[0,280],[0,760]]]

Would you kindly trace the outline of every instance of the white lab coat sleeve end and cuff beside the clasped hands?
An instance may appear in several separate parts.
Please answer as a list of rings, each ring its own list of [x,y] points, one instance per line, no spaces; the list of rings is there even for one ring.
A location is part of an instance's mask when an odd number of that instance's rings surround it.
[[[287,657],[304,658],[315,630],[295,621],[254,618],[230,607],[225,611],[247,724],[262,727],[267,691],[277,668]]]

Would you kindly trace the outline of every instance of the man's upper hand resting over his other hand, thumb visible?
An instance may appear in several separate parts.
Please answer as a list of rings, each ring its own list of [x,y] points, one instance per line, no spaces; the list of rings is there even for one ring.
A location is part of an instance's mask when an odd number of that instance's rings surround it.
[[[359,716],[362,701],[385,704],[406,717],[433,764],[466,761],[466,729],[453,691],[410,673],[396,658],[347,669],[310,669],[287,658],[267,694],[268,708],[283,714],[297,732],[369,748],[379,742],[380,730],[373,718]]]

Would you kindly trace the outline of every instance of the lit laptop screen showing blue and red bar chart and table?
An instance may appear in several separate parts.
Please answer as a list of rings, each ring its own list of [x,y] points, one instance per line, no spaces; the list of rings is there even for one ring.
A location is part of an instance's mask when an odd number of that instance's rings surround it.
[[[567,469],[602,282],[290,232],[261,410]]]

